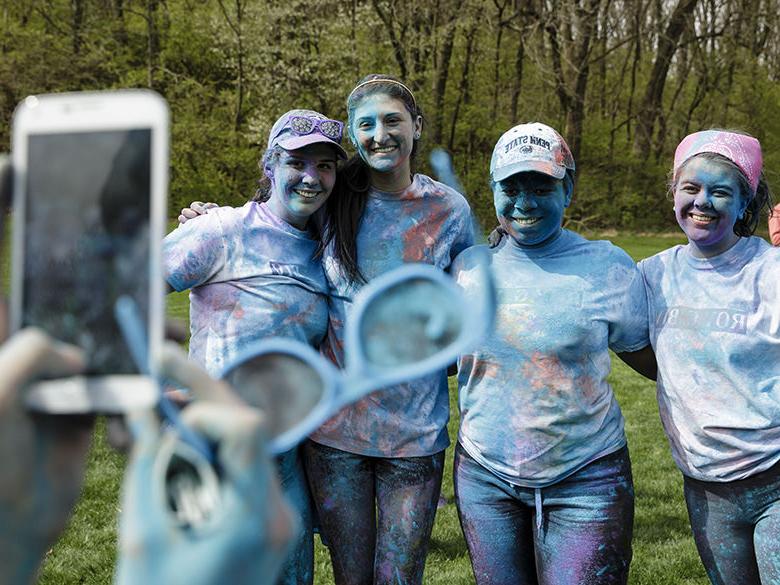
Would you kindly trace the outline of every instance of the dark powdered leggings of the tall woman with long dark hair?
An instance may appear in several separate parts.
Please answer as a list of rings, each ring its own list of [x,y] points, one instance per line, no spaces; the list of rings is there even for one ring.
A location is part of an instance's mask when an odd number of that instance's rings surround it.
[[[337,585],[421,584],[444,452],[366,457],[307,441],[304,462]]]

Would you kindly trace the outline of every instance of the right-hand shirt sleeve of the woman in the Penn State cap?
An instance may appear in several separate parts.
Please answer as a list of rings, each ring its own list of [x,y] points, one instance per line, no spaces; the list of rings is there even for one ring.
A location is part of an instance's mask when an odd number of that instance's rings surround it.
[[[609,268],[609,348],[616,352],[638,351],[650,345],[647,293],[634,261],[622,250]]]

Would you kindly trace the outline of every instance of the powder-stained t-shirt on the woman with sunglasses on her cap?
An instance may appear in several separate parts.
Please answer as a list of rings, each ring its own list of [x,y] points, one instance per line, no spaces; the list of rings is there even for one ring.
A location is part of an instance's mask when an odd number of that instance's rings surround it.
[[[216,376],[265,337],[317,347],[327,330],[327,282],[317,242],[263,203],[220,207],[165,238],[165,279],[190,292],[190,357]]]

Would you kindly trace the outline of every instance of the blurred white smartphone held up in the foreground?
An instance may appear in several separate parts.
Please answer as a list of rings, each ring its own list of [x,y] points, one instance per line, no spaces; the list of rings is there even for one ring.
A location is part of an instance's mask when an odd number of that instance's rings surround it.
[[[14,113],[11,329],[39,327],[88,362],[83,376],[33,384],[33,410],[122,413],[158,399],[114,306],[123,295],[135,301],[155,373],[168,134],[165,100],[144,90],[30,96]]]

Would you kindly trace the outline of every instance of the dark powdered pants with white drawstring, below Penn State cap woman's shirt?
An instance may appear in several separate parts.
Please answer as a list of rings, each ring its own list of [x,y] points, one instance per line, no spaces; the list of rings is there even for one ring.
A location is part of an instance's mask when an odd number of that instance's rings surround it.
[[[623,585],[634,488],[628,449],[543,488],[510,484],[455,448],[455,499],[478,585]]]

